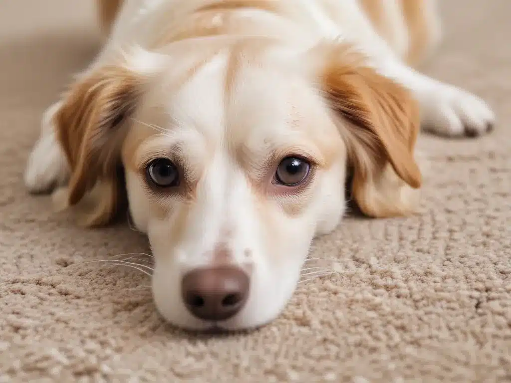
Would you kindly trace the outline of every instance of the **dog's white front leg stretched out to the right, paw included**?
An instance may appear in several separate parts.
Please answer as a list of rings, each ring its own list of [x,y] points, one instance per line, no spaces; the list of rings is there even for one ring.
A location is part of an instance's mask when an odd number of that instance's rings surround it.
[[[330,15],[341,27],[339,34],[354,42],[367,55],[370,65],[413,92],[421,106],[425,130],[446,136],[474,136],[491,129],[495,116],[483,100],[407,65],[378,34],[359,0],[339,0],[337,12]]]

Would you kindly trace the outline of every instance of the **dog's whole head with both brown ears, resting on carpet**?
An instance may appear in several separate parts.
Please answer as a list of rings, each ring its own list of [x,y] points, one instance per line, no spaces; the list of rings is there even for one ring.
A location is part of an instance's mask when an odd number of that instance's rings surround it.
[[[95,186],[86,224],[103,224],[125,188],[155,257],[156,306],[180,327],[274,319],[314,236],[344,213],[348,170],[374,217],[411,211],[420,184],[406,91],[341,47],[291,63],[261,45],[179,64],[138,52],[78,81],[56,115],[69,204]]]

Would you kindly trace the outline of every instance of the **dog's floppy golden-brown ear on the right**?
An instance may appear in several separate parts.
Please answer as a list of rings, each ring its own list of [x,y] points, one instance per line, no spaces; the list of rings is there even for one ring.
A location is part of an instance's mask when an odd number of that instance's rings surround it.
[[[353,197],[364,214],[392,217],[415,210],[422,177],[414,158],[419,108],[396,82],[364,65],[349,47],[325,55],[321,87],[338,118],[353,167]]]

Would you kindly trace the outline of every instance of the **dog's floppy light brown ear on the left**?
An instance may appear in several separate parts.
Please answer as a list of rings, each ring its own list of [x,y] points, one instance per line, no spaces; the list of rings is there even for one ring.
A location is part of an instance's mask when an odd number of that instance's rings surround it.
[[[60,204],[80,202],[84,226],[107,224],[125,202],[120,149],[126,134],[123,125],[136,105],[140,81],[123,67],[100,68],[72,85],[54,117],[71,168]]]

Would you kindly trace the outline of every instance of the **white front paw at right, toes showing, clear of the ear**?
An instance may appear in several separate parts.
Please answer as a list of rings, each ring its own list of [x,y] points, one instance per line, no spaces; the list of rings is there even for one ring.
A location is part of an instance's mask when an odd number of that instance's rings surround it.
[[[420,94],[425,130],[444,136],[475,137],[493,129],[495,115],[476,95],[447,84]]]

